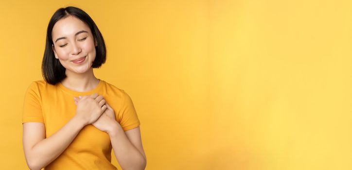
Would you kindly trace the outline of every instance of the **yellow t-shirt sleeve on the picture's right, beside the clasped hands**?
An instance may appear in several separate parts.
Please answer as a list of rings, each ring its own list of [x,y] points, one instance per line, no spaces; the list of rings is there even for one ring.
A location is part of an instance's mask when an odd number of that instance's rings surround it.
[[[138,119],[136,109],[133,105],[133,102],[130,96],[123,91],[122,107],[119,113],[120,125],[123,128],[123,131],[127,131],[133,128],[138,127],[141,123]]]

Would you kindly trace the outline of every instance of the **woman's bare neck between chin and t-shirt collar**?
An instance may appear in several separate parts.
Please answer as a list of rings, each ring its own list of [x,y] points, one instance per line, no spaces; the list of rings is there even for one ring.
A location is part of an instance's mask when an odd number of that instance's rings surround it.
[[[99,79],[94,76],[93,68],[85,73],[76,73],[66,69],[66,76],[61,84],[74,91],[90,91],[99,84]]]

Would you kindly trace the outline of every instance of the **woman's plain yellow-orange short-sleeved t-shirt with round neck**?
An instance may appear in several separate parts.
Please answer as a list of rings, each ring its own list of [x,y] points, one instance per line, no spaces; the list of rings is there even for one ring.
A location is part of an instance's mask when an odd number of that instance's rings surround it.
[[[75,115],[73,97],[93,93],[103,95],[114,109],[116,120],[124,131],[140,125],[129,95],[103,80],[87,92],[70,90],[61,83],[50,85],[44,80],[32,82],[25,93],[22,123],[42,122],[46,137],[50,137]],[[111,164],[111,149],[109,135],[89,124],[45,170],[117,170]]]

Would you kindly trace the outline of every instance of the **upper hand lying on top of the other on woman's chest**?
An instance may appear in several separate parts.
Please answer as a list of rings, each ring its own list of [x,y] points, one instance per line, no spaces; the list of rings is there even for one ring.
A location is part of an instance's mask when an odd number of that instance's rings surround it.
[[[103,96],[98,96],[97,93],[80,97],[79,100],[74,98],[74,100],[77,105],[76,116],[82,119],[86,125],[99,119],[107,108]]]

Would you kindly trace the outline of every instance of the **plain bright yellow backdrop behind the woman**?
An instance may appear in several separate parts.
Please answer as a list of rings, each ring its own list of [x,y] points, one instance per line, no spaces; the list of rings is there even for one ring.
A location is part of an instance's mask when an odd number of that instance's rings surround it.
[[[24,92],[68,5],[105,38],[95,74],[131,96],[146,170],[352,169],[352,1],[41,0],[0,4],[1,170],[27,169]]]

